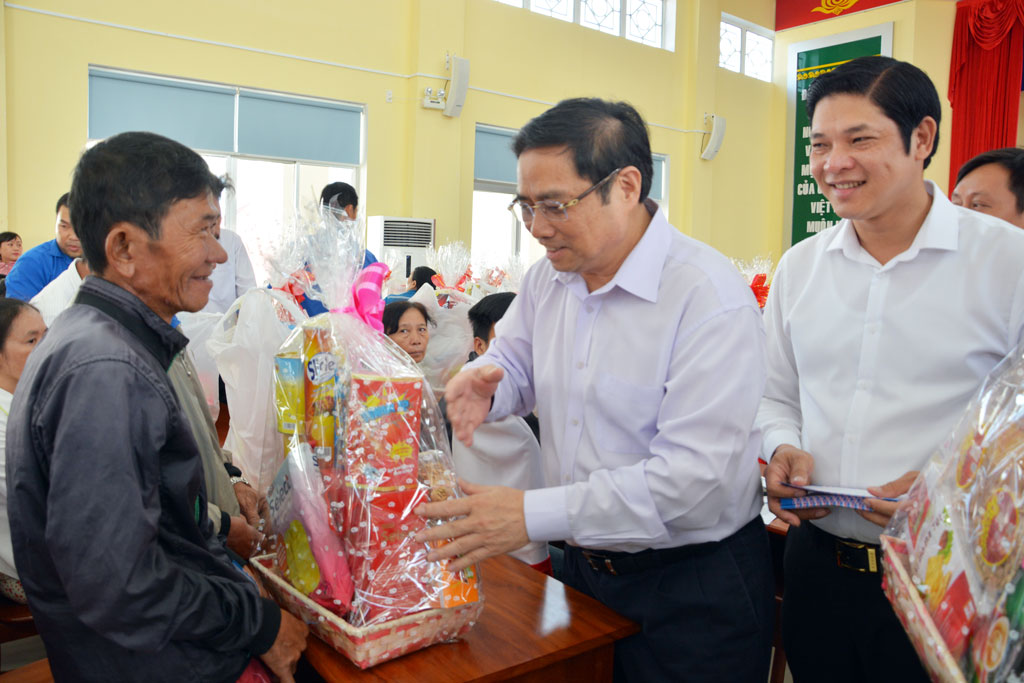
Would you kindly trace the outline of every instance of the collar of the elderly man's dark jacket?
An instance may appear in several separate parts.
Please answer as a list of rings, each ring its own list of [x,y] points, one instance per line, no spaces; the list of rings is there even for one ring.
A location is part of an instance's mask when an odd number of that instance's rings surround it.
[[[141,299],[110,281],[87,275],[79,288],[79,294],[82,293],[103,300],[105,305],[100,310],[134,334],[165,370],[188,344],[187,337],[165,323]]]

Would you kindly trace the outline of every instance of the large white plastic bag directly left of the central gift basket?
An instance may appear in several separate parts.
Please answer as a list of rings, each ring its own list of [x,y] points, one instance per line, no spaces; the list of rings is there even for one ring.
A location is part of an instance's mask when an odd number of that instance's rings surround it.
[[[261,496],[285,458],[273,404],[273,356],[305,318],[284,292],[250,290],[231,304],[207,342],[231,413],[224,447]]]

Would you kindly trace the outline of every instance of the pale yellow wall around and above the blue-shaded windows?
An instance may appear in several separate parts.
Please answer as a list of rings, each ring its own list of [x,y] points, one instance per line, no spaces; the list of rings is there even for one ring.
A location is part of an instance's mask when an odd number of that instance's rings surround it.
[[[473,88],[548,102],[582,94],[614,97],[632,101],[652,123],[674,128],[699,123],[686,118],[694,111],[685,82],[692,56],[686,49],[639,45],[493,0],[20,4],[85,19],[10,6],[3,11],[8,157],[0,165],[7,171],[9,202],[0,223],[9,221],[29,244],[51,237],[53,201],[67,189],[86,141],[90,65],[366,103],[367,213],[436,218],[440,242],[470,239],[475,124],[518,128],[547,109],[479,90],[470,90],[458,119],[423,109],[424,88],[443,81],[416,74],[443,75],[445,52],[470,59]],[[685,30],[686,17],[679,24]],[[681,46],[691,42],[677,35]],[[387,90],[393,93],[390,103]],[[673,217],[688,227],[690,202],[677,180],[686,174],[684,152],[698,148],[699,135],[658,127],[651,134],[654,151],[671,155]]]

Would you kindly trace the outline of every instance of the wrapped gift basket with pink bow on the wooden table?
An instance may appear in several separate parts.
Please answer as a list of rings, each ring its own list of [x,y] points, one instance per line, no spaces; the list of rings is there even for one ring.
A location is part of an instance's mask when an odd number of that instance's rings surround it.
[[[293,238],[330,311],[298,325],[275,358],[287,452],[270,487],[276,552],[255,563],[283,606],[359,667],[471,628],[476,567],[428,562],[422,502],[462,496],[437,401],[382,334],[387,266],[359,270],[358,231],[330,210]]]

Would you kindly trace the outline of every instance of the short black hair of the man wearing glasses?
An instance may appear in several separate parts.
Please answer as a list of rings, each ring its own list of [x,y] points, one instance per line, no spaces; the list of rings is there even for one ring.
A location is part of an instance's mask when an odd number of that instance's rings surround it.
[[[616,168],[635,166],[642,178],[640,201],[647,199],[654,177],[647,126],[627,102],[609,102],[596,97],[563,99],[530,119],[519,130],[512,151],[516,158],[523,152],[543,147],[567,147],[577,174],[591,182],[600,182]],[[607,201],[609,184],[598,193]]]

